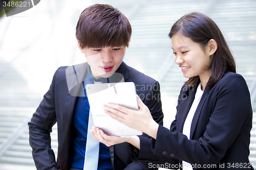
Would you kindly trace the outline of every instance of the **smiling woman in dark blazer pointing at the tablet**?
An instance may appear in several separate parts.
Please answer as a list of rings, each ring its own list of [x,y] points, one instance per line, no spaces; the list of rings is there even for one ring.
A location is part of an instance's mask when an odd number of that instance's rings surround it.
[[[175,62],[189,78],[181,88],[170,130],[158,125],[138,98],[139,111],[109,104],[105,112],[152,137],[93,137],[107,145],[130,142],[140,160],[158,160],[168,168],[253,169],[249,163],[252,109],[244,78],[214,21],[201,13],[181,17],[169,33]],[[177,166],[178,165],[178,166]]]

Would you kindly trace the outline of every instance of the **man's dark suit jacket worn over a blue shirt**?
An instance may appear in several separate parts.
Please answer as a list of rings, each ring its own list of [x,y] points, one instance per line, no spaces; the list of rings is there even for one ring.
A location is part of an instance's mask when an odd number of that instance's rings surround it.
[[[87,74],[87,63],[73,66],[78,78],[85,78]],[[70,146],[72,139],[72,118],[76,103],[76,96],[70,94],[66,79],[66,69],[60,67],[53,76],[52,84],[48,92],[44,95],[36,112],[33,114],[29,125],[29,141],[33,149],[32,155],[37,169],[70,169]],[[119,73],[123,75],[125,82],[134,82],[137,94],[142,102],[150,109],[154,120],[162,125],[163,113],[160,100],[159,83],[121,63]],[[76,81],[77,77],[74,77]],[[68,82],[70,83],[70,82]],[[81,83],[81,82],[80,82]],[[72,84],[72,82],[71,82]],[[69,84],[70,85],[70,84]],[[57,122],[58,127],[58,158],[55,161],[54,152],[51,149],[50,132]],[[143,137],[148,137],[146,134]],[[147,164],[131,164],[138,150],[131,144],[124,142],[110,147],[112,164],[115,170],[124,169],[129,165],[129,169],[148,168]]]

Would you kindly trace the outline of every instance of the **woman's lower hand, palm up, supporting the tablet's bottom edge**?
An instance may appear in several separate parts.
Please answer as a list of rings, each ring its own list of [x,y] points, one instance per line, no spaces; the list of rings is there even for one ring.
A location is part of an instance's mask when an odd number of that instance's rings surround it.
[[[94,140],[104,143],[107,147],[118,143],[129,142],[140,149],[140,140],[138,136],[109,136],[96,127],[93,127],[90,132]]]

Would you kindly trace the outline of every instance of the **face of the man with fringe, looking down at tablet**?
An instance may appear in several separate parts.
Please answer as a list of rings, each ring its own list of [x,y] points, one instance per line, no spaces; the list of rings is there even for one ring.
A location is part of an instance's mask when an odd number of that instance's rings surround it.
[[[111,77],[123,61],[125,46],[107,46],[99,48],[84,47],[80,51],[91,66],[92,76],[96,79]]]

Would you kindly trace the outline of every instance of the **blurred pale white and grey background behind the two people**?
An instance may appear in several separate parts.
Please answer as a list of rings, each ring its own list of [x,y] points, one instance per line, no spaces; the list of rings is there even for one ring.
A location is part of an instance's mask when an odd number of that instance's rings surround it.
[[[174,62],[168,32],[177,19],[195,11],[211,17],[222,30],[256,111],[255,0],[42,0],[25,12],[0,17],[0,169],[36,169],[27,123],[55,70],[86,62],[77,47],[75,27],[83,9],[96,3],[110,4],[129,18],[133,33],[124,62],[160,82],[165,127],[174,119],[186,81]],[[254,168],[255,125],[253,118],[249,159]],[[51,134],[55,153],[56,126]]]

